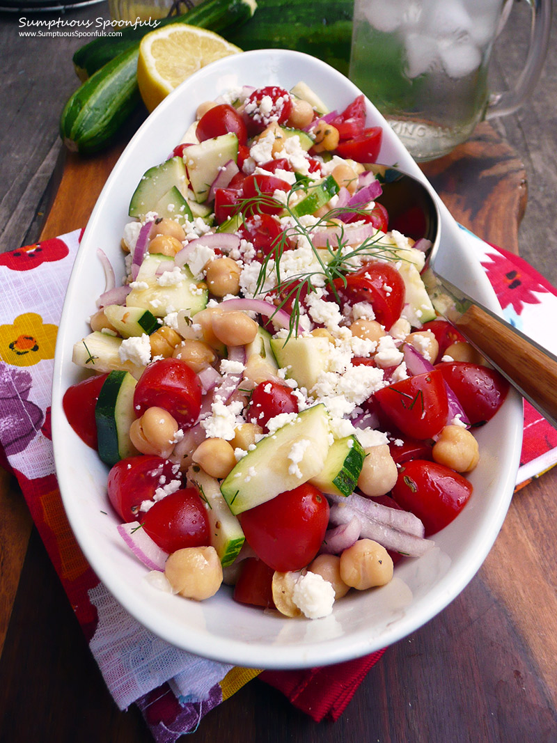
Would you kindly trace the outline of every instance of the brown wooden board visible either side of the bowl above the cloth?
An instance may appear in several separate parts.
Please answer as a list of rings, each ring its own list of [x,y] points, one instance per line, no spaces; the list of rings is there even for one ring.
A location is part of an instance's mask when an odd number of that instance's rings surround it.
[[[41,233],[45,240],[85,227],[123,143],[100,155],[62,152],[53,180],[53,202]],[[482,239],[518,253],[518,225],[524,216],[524,165],[488,123],[450,155],[423,165],[449,211]],[[79,194],[79,198],[76,198]]]

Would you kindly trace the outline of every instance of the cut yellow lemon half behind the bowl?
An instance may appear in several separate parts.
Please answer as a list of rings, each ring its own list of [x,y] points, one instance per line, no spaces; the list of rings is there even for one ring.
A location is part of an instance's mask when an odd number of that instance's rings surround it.
[[[218,33],[172,23],[143,36],[137,59],[137,85],[149,112],[180,82],[209,62],[242,50]]]

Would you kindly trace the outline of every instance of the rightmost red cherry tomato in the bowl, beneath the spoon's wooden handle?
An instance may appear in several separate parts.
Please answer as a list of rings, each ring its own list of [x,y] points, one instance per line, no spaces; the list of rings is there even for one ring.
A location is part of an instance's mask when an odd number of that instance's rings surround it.
[[[442,361],[435,369],[455,393],[472,425],[485,423],[504,403],[509,383],[495,369],[467,361]]]

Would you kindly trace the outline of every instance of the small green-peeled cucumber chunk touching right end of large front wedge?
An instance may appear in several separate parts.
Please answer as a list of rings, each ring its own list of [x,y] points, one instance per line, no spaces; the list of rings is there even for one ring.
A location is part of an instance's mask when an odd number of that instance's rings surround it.
[[[331,445],[322,471],[310,483],[323,493],[349,496],[358,484],[364,459],[365,452],[356,436],[339,438]]]

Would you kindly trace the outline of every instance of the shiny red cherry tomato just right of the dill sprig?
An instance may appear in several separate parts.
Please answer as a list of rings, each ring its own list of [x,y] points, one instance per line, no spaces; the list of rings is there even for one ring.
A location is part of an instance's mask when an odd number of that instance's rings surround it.
[[[342,303],[368,302],[375,319],[388,330],[404,307],[405,286],[402,276],[390,263],[366,263],[354,273],[333,282]],[[332,299],[331,299],[332,301]]]

